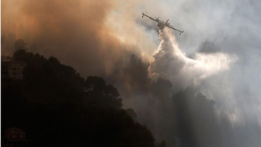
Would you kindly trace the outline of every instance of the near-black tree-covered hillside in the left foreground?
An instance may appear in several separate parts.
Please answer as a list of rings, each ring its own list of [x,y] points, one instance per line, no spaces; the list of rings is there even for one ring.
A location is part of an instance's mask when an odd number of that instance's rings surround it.
[[[2,79],[2,130],[24,129],[31,146],[155,146],[150,130],[121,109],[117,88],[103,78],[84,79],[55,57],[25,50],[13,58],[27,66],[23,80]]]

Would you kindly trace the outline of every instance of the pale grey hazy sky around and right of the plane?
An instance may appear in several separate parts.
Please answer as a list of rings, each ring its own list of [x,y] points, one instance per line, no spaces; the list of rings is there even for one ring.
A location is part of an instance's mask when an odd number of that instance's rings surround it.
[[[122,7],[117,11],[117,18],[124,17],[124,21],[117,24],[120,31],[116,33],[121,37],[126,33],[125,40],[128,41],[132,31],[124,31],[125,25],[122,24],[130,21],[135,30],[149,36],[147,41],[154,46],[153,49],[144,48],[144,51],[154,52],[159,40],[156,23],[149,18],[141,18],[142,12],[160,20],[169,18],[171,25],[184,30],[182,35],[175,31],[171,33],[176,36],[179,49],[189,57],[201,51],[236,55],[238,60],[229,70],[211,75],[198,87],[208,98],[217,101],[217,109],[225,111],[232,123],[244,125],[246,121],[258,119],[261,124],[260,2],[178,0],[138,1],[133,5],[125,5],[132,7],[131,10]],[[125,13],[129,17],[122,15]],[[175,84],[176,81],[171,82]]]

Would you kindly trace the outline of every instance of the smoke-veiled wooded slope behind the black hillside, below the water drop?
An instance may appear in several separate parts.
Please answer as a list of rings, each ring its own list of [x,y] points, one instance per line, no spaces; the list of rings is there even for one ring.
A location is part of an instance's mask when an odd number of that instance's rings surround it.
[[[134,54],[127,57],[130,62],[122,67],[114,83],[126,99],[139,105],[137,121],[146,124],[156,138],[157,146],[233,146],[232,127],[226,114],[215,111],[215,101],[199,93],[195,87],[187,87],[172,93],[168,79],[150,79],[148,64]],[[123,62],[120,62],[123,63]],[[175,67],[174,67],[175,68]],[[121,72],[118,72],[121,73]],[[119,83],[119,84],[117,84]],[[125,85],[124,85],[125,84]],[[176,86],[176,85],[175,85]],[[136,118],[134,110],[128,113]]]

